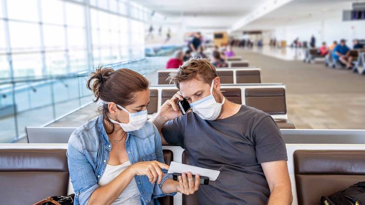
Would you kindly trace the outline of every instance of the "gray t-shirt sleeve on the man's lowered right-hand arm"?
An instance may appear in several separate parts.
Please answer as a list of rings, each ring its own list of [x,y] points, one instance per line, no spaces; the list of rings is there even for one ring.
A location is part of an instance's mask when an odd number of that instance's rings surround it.
[[[288,160],[284,139],[271,116],[257,123],[253,138],[258,163]]]

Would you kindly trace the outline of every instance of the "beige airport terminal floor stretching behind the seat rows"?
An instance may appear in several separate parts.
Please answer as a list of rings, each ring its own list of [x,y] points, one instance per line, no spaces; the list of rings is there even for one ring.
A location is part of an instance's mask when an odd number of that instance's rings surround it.
[[[286,85],[288,117],[297,129],[364,128],[364,76],[327,68],[323,62],[306,64],[302,58],[295,60],[291,55],[295,49],[291,48],[269,50],[265,54],[259,50],[234,50],[237,56],[249,60],[250,65],[261,68],[263,83]],[[156,72],[146,77],[152,85],[157,83]],[[79,126],[97,115],[97,106],[91,103],[49,126]]]

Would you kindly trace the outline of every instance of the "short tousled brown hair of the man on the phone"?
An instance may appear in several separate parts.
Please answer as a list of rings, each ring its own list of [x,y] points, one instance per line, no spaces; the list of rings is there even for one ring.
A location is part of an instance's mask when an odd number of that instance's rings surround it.
[[[216,68],[208,59],[191,58],[185,61],[176,72],[171,72],[168,79],[180,89],[180,83],[183,81],[199,77],[204,83],[210,84],[217,76]]]

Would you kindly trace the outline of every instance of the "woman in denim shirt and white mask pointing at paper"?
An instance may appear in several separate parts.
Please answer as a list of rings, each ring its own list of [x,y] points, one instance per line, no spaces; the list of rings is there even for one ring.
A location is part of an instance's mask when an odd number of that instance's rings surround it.
[[[198,190],[198,175],[194,184],[190,172],[179,182],[166,173],[160,134],[147,121],[145,77],[126,68],[98,68],[87,84],[103,105],[101,115],[69,139],[74,205],[158,205],[157,197]]]

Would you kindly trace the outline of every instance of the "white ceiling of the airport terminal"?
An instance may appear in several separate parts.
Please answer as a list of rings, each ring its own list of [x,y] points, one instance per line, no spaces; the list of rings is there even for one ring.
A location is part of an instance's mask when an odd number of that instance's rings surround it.
[[[266,0],[134,0],[167,19],[180,21],[189,30],[223,31],[250,14]],[[354,0],[292,0],[236,32],[270,30],[280,25],[339,16]],[[358,0],[359,1],[359,0]]]

